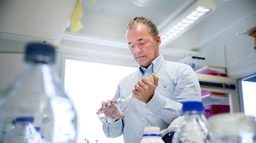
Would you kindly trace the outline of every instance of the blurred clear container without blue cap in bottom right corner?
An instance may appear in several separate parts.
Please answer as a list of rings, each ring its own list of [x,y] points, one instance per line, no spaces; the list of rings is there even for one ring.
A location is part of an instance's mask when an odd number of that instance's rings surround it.
[[[256,143],[255,117],[244,113],[216,114],[209,118],[212,143]]]

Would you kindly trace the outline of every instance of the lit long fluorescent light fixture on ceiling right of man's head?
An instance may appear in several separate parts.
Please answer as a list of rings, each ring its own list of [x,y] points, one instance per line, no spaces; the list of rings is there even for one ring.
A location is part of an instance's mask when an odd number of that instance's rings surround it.
[[[213,0],[195,1],[160,31],[162,41],[160,47],[164,47],[171,43],[204,17],[209,15],[213,10],[216,10]]]

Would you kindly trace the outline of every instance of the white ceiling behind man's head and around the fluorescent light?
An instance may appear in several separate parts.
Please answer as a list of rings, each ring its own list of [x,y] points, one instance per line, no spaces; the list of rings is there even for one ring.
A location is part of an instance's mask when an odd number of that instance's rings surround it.
[[[135,16],[151,19],[160,31],[162,23],[169,17],[175,17],[195,0],[153,0],[147,7],[139,7],[131,0],[82,0],[84,17],[83,28],[76,35],[93,37],[109,41],[126,42],[124,29]],[[256,0],[214,0],[217,7],[209,16],[179,38],[164,47],[165,50],[200,51],[204,44],[227,31],[232,24],[242,23],[243,17],[255,10]],[[246,30],[245,27],[244,30]],[[69,33],[70,29],[66,30]],[[181,59],[180,55],[172,60]]]

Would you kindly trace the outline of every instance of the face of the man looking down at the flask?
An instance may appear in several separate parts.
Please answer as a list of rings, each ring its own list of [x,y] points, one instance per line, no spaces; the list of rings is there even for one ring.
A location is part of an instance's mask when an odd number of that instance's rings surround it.
[[[139,65],[148,68],[151,62],[159,56],[160,36],[152,39],[144,24],[127,30],[127,42],[133,58]]]

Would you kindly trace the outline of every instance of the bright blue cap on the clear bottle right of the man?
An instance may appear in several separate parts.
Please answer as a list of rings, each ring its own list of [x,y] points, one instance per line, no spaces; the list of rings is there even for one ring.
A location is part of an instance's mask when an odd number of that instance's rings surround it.
[[[183,113],[186,111],[203,111],[203,104],[199,101],[186,101],[183,102]]]

